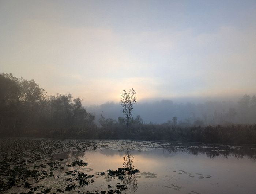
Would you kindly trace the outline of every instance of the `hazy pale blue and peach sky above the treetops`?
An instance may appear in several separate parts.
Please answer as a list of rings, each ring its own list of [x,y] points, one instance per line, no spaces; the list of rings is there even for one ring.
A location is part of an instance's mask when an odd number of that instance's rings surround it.
[[[0,0],[0,72],[84,104],[256,92],[256,1]]]

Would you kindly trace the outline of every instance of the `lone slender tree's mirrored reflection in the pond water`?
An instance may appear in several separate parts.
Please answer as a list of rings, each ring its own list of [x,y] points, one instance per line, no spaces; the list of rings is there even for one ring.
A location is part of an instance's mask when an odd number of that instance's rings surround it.
[[[123,168],[129,168],[130,170],[134,170],[133,162],[133,155],[129,153],[127,150],[124,155],[124,163]],[[123,184],[129,187],[131,190],[135,191],[138,188],[137,185],[137,175],[135,174],[126,174],[123,179]]]

